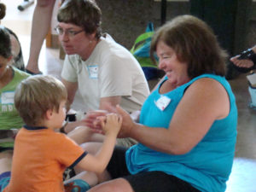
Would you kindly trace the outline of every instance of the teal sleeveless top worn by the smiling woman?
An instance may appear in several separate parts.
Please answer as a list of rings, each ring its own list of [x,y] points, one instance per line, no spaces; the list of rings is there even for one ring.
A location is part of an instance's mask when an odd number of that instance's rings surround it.
[[[137,172],[161,171],[179,177],[204,192],[221,192],[231,172],[236,145],[237,108],[230,84],[213,74],[204,74],[187,84],[164,95],[159,88],[148,96],[143,104],[140,123],[150,127],[169,126],[172,115],[183,97],[184,90],[197,79],[211,78],[223,84],[230,96],[230,113],[224,119],[216,120],[207,135],[189,153],[172,155],[157,152],[138,143],[126,152],[126,164],[131,174]],[[160,96],[167,96],[171,102],[164,111],[154,104]]]

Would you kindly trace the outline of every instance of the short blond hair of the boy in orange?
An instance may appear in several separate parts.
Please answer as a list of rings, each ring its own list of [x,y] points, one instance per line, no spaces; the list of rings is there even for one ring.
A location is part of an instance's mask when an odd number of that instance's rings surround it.
[[[49,75],[24,79],[15,90],[15,108],[26,125],[39,125],[47,110],[58,112],[63,100],[67,100],[66,87]]]

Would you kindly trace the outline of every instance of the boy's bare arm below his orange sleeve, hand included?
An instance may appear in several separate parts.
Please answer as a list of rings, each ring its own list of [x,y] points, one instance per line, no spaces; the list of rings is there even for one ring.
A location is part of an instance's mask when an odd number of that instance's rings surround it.
[[[102,148],[100,148],[95,156],[86,154],[84,159],[78,164],[80,168],[89,172],[101,173],[108,166],[108,162],[113,154],[116,137],[122,124],[122,118],[117,114],[110,113],[107,115],[106,122],[103,119],[101,123],[105,132]]]

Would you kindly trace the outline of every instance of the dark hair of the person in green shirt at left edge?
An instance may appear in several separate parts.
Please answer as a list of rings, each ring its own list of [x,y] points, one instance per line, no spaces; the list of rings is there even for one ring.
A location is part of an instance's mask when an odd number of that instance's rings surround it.
[[[0,55],[9,58],[12,55],[9,32],[4,26],[0,26]]]

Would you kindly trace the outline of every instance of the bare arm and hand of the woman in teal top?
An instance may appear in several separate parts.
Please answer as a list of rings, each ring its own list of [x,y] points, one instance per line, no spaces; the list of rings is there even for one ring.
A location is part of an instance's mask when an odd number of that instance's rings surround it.
[[[214,120],[228,115],[230,101],[217,81],[199,79],[184,93],[168,129],[136,124],[123,109],[117,109],[123,117],[120,137],[134,138],[160,152],[186,154],[207,134]]]

